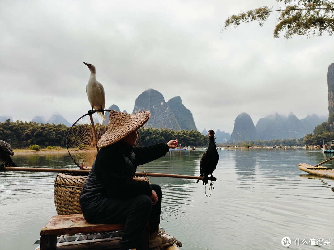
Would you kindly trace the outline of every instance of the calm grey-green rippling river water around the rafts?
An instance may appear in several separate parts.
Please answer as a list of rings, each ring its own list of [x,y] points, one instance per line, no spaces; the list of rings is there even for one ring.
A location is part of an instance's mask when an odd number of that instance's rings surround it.
[[[170,151],[137,171],[199,175],[204,151]],[[329,156],[303,148],[218,150],[209,186],[196,180],[151,178],[163,190],[161,226],[181,249],[334,249],[334,179],[311,176],[299,163]],[[15,155],[21,167],[76,168],[67,154]],[[324,166],[334,167],[334,161]],[[0,249],[33,250],[39,231],[56,215],[56,173],[0,173]],[[207,197],[209,196],[210,197]],[[284,242],[285,243],[285,242]]]

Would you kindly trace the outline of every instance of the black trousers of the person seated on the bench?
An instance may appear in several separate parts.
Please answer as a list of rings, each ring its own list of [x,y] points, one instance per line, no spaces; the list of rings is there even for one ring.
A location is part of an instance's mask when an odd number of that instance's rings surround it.
[[[160,224],[161,188],[157,184],[150,185],[157,193],[158,202],[152,206],[152,199],[147,195],[138,195],[131,198],[106,198],[106,204],[90,222],[103,224],[125,223],[124,233],[120,241],[121,250],[136,248],[143,245],[143,231],[149,221],[150,234],[157,231]]]

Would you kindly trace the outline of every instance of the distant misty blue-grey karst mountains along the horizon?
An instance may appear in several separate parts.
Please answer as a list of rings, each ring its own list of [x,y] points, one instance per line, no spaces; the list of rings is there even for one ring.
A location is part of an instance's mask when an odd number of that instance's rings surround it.
[[[108,109],[120,111],[115,104]],[[180,96],[173,97],[169,101],[165,101],[163,95],[154,89],[148,89],[141,93],[136,101],[132,113],[149,110],[151,118],[144,127],[152,128],[167,128],[174,131],[178,130],[197,130],[192,113],[187,109],[181,100]],[[126,110],[123,112],[128,113]],[[12,117],[0,116],[0,122]],[[225,133],[217,129],[215,131],[216,142],[237,142],[249,140],[273,140],[273,139],[299,139],[308,133],[313,133],[314,128],[328,117],[318,117],[316,114],[308,115],[303,119],[298,119],[293,113],[288,117],[280,116],[278,113],[273,113],[269,116],[261,118],[256,126],[253,120],[247,113],[239,114],[234,120],[234,129],[232,134]],[[106,117],[107,124],[109,117]],[[32,122],[49,123],[49,124],[64,124],[72,126],[62,115],[54,113],[46,120],[43,116],[35,116]],[[207,135],[206,129],[202,134]]]

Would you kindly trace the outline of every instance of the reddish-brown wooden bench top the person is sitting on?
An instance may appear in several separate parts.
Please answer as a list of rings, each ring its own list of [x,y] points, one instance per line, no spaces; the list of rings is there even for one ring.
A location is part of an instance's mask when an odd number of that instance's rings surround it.
[[[40,235],[103,232],[124,229],[124,224],[94,224],[85,220],[82,214],[52,216],[41,229]]]

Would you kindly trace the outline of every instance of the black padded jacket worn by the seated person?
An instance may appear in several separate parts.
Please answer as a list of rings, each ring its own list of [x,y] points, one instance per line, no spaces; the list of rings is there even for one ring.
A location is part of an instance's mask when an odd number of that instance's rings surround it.
[[[168,151],[169,147],[164,143],[132,147],[122,141],[101,148],[80,193],[81,210],[85,218],[87,213],[92,215],[99,211],[108,197],[122,199],[140,194],[151,196],[152,188],[148,182],[132,178],[138,165],[156,160]]]

